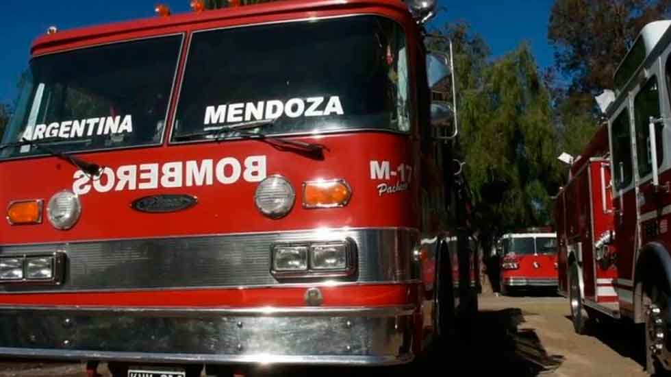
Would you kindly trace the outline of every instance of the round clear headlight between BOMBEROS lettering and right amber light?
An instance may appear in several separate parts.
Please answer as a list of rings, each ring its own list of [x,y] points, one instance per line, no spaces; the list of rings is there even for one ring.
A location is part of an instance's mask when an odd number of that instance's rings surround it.
[[[271,219],[286,216],[294,206],[296,193],[291,184],[280,175],[271,175],[256,188],[254,202],[259,211]]]

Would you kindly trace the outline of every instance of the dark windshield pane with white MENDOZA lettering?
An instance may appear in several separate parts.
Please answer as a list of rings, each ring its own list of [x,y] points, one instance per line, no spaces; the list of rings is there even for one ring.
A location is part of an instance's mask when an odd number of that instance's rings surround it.
[[[264,119],[277,119],[264,134],[407,132],[408,93],[405,35],[389,19],[354,16],[197,32],[173,141]]]

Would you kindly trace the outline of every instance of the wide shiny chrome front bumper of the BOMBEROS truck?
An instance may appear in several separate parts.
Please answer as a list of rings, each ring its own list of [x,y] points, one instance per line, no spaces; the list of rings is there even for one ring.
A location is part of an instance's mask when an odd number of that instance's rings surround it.
[[[0,356],[394,365],[412,361],[414,310],[0,307]]]

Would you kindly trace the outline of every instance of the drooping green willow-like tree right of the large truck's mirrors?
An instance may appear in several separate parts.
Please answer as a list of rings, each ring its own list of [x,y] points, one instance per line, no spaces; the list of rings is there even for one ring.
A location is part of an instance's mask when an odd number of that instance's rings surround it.
[[[473,195],[474,226],[492,234],[550,223],[561,183],[550,93],[527,44],[490,60],[490,50],[468,25],[440,32],[453,40],[460,136]],[[448,51],[445,44],[432,49]]]

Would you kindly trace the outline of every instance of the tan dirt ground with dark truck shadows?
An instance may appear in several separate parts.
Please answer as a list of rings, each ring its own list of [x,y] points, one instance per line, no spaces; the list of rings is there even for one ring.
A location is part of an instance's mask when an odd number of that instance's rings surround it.
[[[466,339],[431,348],[412,365],[376,369],[301,369],[296,377],[417,376],[646,376],[642,332],[627,324],[602,322],[590,335],[576,335],[563,297],[482,295],[480,313]],[[105,365],[100,371],[107,377]],[[0,360],[0,377],[84,377],[84,365]]]

